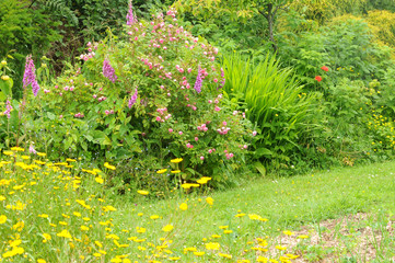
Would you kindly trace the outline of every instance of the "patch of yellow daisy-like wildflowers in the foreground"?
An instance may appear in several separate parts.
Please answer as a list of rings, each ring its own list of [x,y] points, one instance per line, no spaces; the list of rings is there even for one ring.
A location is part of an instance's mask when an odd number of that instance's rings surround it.
[[[259,229],[247,238],[228,239],[231,225],[219,226],[217,233],[196,245],[183,245],[183,237],[205,227],[193,227],[196,215],[216,206],[202,190],[211,180],[208,176],[182,184],[165,216],[146,215],[144,198],[150,193],[139,190],[141,198],[136,202],[142,209],[129,211],[138,214],[139,220],[117,226],[113,218],[117,207],[105,187],[106,174],[115,169],[107,162],[101,169],[83,168],[75,159],[51,162],[45,153],[20,147],[3,150],[0,262],[291,262],[299,258],[258,236],[267,219],[256,214],[234,215],[235,222],[251,221],[251,229],[244,231]],[[267,253],[270,247],[275,252]]]

